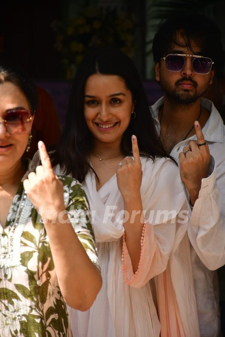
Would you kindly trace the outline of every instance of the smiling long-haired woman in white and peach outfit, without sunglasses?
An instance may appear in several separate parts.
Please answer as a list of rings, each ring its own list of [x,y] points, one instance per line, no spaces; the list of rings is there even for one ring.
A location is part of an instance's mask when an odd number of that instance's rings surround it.
[[[74,334],[200,336],[189,218],[180,219],[188,207],[185,193],[178,167],[158,139],[129,57],[104,48],[84,57],[51,160],[56,174],[82,182],[94,214],[103,277],[87,312],[69,308]],[[160,322],[149,284],[156,275]]]

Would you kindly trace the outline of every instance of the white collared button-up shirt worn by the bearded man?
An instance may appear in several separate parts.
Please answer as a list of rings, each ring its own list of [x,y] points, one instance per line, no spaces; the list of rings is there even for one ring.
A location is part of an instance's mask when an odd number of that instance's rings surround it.
[[[160,98],[150,110],[160,133]],[[188,235],[192,244],[192,266],[201,337],[220,336],[219,287],[216,269],[225,264],[225,126],[214,104],[201,98],[210,112],[202,132],[211,154],[209,175],[202,179],[199,196],[192,210]],[[179,164],[179,153],[196,135],[179,142],[170,155]],[[210,269],[210,270],[209,270]],[[194,336],[193,336],[194,337]]]

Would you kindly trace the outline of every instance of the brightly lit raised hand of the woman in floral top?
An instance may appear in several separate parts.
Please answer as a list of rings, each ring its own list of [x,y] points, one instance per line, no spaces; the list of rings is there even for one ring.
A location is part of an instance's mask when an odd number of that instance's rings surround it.
[[[36,167],[36,173],[29,173],[23,184],[30,201],[45,223],[65,210],[63,184],[55,175],[45,144],[41,141],[38,142],[38,150],[41,165]]]

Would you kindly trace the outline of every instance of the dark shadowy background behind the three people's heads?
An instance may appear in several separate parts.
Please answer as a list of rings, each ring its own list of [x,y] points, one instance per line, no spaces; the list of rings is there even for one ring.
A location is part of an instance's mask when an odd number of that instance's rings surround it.
[[[161,96],[160,86],[154,81],[151,54],[151,40],[161,19],[167,18],[174,11],[179,11],[182,15],[187,8],[194,12],[202,12],[217,23],[222,31],[225,45],[224,0],[62,0],[54,2],[4,0],[0,7],[0,55],[19,63],[28,71],[37,85],[51,94],[61,125],[67,108],[69,84],[76,72],[77,64],[72,67],[72,72],[68,71],[69,65],[65,66],[63,63],[65,55],[57,50],[59,34],[54,31],[53,26],[57,22],[60,24],[60,29],[64,29],[62,33],[64,44],[68,37],[76,42],[76,34],[68,36],[68,27],[71,20],[78,20],[79,14],[83,15],[84,9],[90,6],[100,9],[103,17],[105,13],[110,12],[118,19],[126,13],[131,19],[133,27],[130,32],[133,31],[133,40],[129,56],[134,60],[144,81],[150,104]],[[93,28],[91,29],[93,31]],[[83,35],[80,37],[80,42],[86,48],[87,43],[85,39],[82,41],[82,38]],[[110,34],[106,36],[108,43],[110,38]],[[129,42],[130,38],[131,36],[125,36],[125,43]],[[117,38],[112,45],[121,49]],[[73,58],[75,60],[78,54],[71,54],[69,63],[73,63]]]

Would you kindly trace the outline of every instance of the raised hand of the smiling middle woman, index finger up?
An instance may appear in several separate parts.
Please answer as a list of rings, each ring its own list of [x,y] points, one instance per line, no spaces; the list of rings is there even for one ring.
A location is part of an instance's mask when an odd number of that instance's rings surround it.
[[[123,200],[140,196],[142,169],[137,137],[134,135],[132,136],[132,152],[134,159],[125,157],[116,169],[117,185]]]

